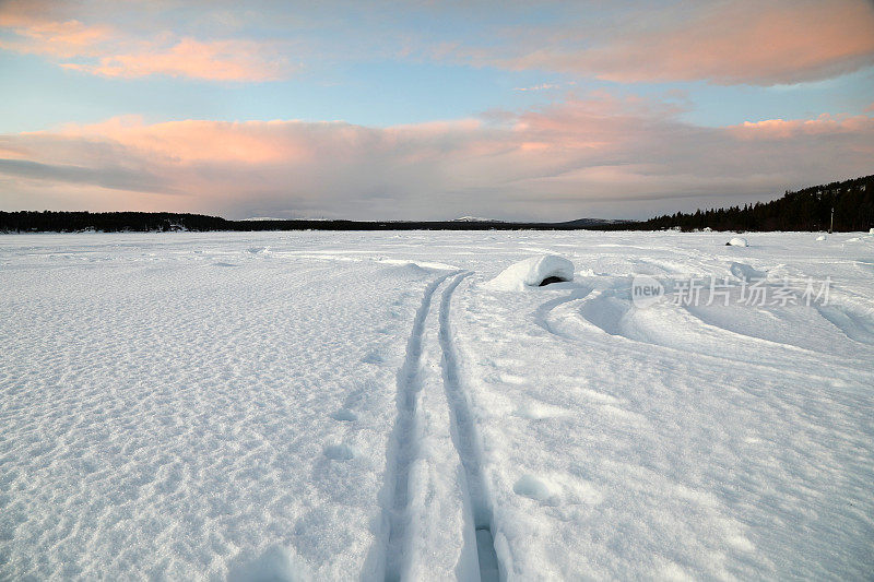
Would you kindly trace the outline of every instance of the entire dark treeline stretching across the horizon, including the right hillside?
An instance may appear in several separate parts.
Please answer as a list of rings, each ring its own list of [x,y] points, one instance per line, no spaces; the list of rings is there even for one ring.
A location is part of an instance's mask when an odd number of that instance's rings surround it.
[[[835,230],[874,227],[874,176],[787,191],[771,202],[718,210],[677,212],[642,222],[581,218],[564,223],[491,221],[227,221],[202,214],[169,212],[0,212],[0,233],[79,233],[96,230],[826,230],[831,209]]]

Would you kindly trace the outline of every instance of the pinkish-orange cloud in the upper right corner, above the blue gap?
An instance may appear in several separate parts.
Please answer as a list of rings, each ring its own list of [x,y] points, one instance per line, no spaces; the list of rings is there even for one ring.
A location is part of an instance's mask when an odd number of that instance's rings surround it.
[[[479,64],[594,74],[623,83],[772,85],[874,63],[874,7],[864,0],[733,0],[631,15],[624,25],[591,34],[574,36],[560,28],[535,31],[536,38],[523,34],[523,41],[517,39],[528,47],[522,50],[459,48],[454,55]],[[579,38],[587,44],[576,44]]]

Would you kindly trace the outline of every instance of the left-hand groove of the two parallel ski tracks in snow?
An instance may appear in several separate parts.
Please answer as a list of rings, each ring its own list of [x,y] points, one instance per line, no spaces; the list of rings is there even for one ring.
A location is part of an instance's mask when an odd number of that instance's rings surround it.
[[[391,435],[391,456],[389,466],[392,467],[389,478],[392,484],[390,507],[386,508],[389,524],[389,537],[386,544],[386,580],[400,580],[403,571],[403,560],[408,555],[409,539],[406,530],[409,525],[408,507],[410,502],[409,484],[410,466],[418,454],[418,439],[416,438],[416,396],[422,388],[421,365],[423,335],[425,320],[430,311],[432,299],[437,288],[452,273],[438,277],[425,289],[413,320],[413,330],[406,342],[406,356],[398,371],[398,392],[395,405],[398,418]]]

